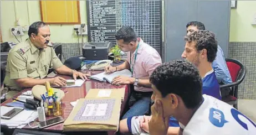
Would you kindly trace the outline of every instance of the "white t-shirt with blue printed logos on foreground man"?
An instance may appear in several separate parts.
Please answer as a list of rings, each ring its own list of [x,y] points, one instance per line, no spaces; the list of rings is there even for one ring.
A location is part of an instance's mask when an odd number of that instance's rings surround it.
[[[203,95],[204,101],[194,113],[183,135],[255,135],[256,124],[231,105],[212,96]]]

